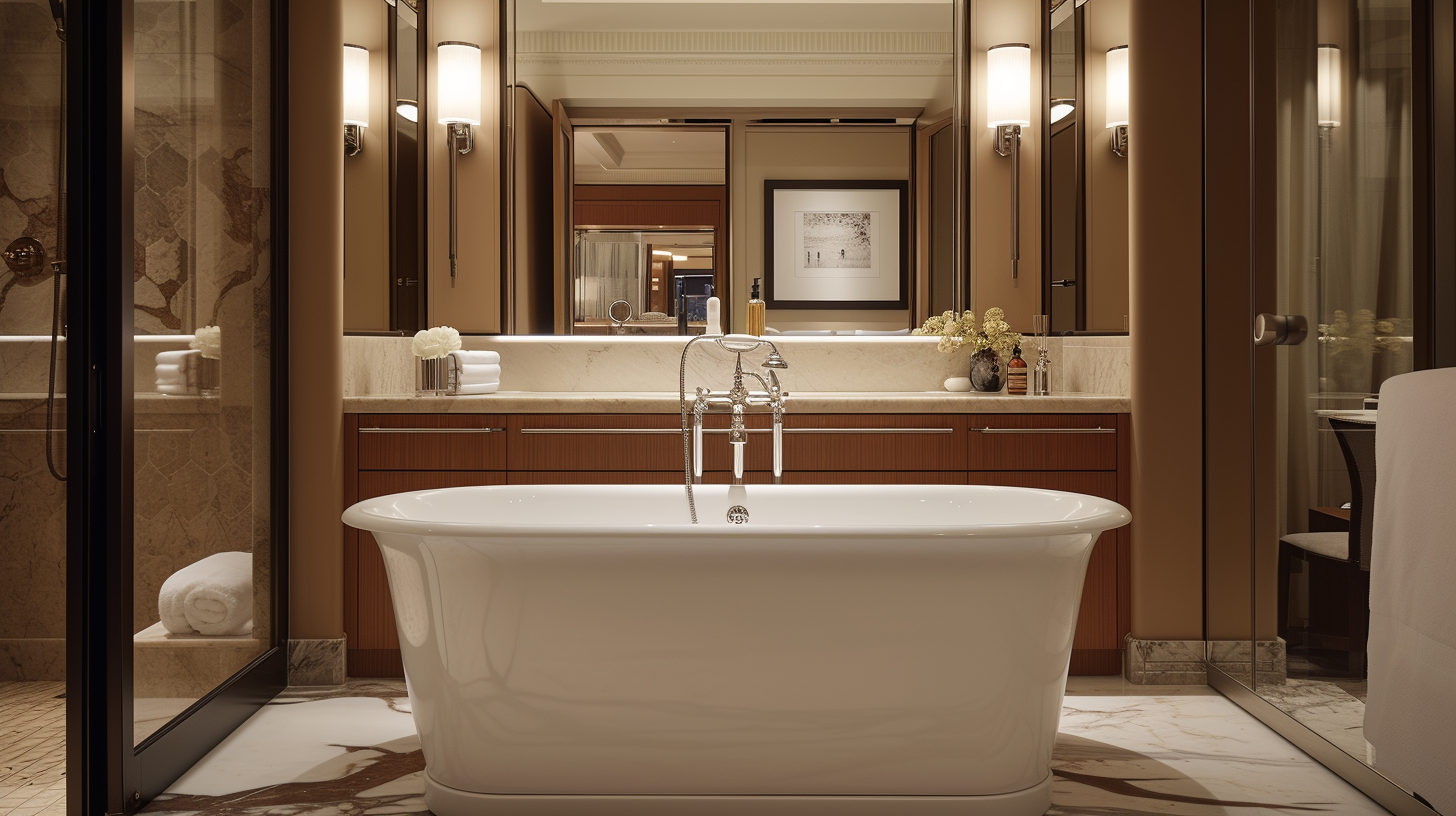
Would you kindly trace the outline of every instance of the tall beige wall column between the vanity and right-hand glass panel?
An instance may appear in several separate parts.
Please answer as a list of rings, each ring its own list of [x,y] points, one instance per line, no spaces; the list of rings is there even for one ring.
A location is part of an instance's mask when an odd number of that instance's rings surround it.
[[[1203,4],[1134,0],[1130,41],[1133,637],[1201,640]]]

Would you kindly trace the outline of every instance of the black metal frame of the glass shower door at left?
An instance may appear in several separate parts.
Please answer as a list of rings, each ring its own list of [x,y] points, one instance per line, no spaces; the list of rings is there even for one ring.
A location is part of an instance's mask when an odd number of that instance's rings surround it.
[[[137,810],[287,685],[287,3],[271,0],[272,641],[132,745],[135,0],[66,3],[67,812]]]

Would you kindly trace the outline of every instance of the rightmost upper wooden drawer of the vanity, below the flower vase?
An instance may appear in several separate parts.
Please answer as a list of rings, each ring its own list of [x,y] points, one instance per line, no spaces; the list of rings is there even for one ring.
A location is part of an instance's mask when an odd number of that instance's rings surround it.
[[[1115,471],[1111,414],[1002,414],[970,418],[971,471]]]

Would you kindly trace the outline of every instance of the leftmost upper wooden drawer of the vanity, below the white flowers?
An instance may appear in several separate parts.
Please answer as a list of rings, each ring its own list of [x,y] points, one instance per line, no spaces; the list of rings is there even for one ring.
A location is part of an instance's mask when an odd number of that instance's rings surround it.
[[[364,414],[361,471],[504,471],[505,417]]]

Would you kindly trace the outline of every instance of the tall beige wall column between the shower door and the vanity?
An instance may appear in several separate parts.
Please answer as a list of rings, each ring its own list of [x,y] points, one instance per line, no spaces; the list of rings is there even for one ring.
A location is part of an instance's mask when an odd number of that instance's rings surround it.
[[[344,17],[288,10],[288,637],[344,637]],[[307,36],[301,36],[307,32]]]

